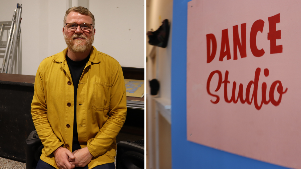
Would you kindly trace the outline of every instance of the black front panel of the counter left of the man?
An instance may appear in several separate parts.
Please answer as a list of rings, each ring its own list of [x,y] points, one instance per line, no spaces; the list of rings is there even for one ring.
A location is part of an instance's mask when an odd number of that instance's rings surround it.
[[[2,82],[0,81],[0,156],[25,162],[25,139],[35,130],[30,114],[34,85]]]

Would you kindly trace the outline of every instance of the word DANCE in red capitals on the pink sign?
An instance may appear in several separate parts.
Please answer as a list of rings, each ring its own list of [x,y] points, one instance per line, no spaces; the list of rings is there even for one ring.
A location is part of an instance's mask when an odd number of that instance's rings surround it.
[[[280,23],[280,13],[274,16],[268,17],[269,20],[269,32],[268,40],[270,40],[270,53],[282,53],[282,45],[276,45],[276,39],[281,39],[281,30],[276,30],[276,24]],[[238,25],[233,26],[233,60],[237,60],[237,48],[239,50],[241,58],[247,57],[246,50],[246,25],[247,23],[241,24],[241,39],[239,38]],[[251,27],[250,31],[250,49],[255,57],[261,57],[265,54],[263,49],[258,49],[256,44],[257,33],[260,31],[262,33],[264,26],[264,21],[259,19],[255,21]],[[207,63],[212,62],[216,55],[216,38],[214,34],[207,34]],[[212,42],[212,52],[211,51]],[[227,56],[227,60],[231,59],[230,46],[229,46],[229,35],[228,29],[222,30],[221,36],[221,51],[219,61]]]

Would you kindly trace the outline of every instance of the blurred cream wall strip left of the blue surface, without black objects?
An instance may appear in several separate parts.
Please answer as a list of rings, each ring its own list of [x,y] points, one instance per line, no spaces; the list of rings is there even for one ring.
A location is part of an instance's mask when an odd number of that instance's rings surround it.
[[[168,19],[172,25],[172,0],[146,0],[146,31],[155,31]],[[171,34],[166,48],[151,46],[146,39],[146,79],[160,83],[158,95],[146,89],[147,152],[146,168],[171,168]]]

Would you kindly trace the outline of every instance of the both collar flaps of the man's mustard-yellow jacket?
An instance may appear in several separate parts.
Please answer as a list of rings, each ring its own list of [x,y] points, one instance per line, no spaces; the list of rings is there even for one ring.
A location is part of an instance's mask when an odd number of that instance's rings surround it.
[[[59,63],[64,62],[64,60],[66,60],[67,51],[68,51],[68,47],[66,49],[64,49],[63,51],[61,51],[60,53],[56,54],[55,57],[53,58],[53,60],[56,62],[59,62]],[[93,63],[100,62],[100,57],[98,55],[98,51],[96,50],[96,48],[94,46],[92,46],[92,48],[91,48],[89,61],[93,62]]]

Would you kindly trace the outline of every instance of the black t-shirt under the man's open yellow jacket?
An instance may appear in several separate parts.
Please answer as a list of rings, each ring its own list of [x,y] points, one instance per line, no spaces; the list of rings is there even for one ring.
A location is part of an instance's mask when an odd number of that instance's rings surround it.
[[[72,83],[74,86],[74,120],[73,120],[73,143],[72,152],[80,149],[80,143],[78,142],[77,125],[76,125],[76,95],[77,87],[80,82],[80,77],[83,74],[85,66],[89,61],[90,55],[82,61],[73,61],[66,55],[67,64],[71,73]]]

